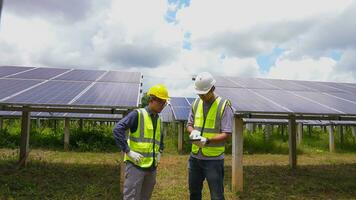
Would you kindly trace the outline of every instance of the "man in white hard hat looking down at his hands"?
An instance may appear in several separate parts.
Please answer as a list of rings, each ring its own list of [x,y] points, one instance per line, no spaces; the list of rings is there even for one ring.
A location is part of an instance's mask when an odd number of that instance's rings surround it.
[[[208,72],[198,74],[194,82],[199,98],[192,104],[187,123],[192,141],[188,165],[191,200],[202,199],[204,179],[212,200],[225,199],[224,152],[232,133],[233,111],[229,100],[215,95],[215,82]]]

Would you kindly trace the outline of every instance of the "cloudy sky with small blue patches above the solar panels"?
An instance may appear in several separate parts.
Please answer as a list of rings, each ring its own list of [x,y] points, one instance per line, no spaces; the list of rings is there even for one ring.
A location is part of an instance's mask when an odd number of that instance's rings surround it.
[[[192,76],[356,82],[352,0],[4,0],[0,65],[142,72],[194,97]]]

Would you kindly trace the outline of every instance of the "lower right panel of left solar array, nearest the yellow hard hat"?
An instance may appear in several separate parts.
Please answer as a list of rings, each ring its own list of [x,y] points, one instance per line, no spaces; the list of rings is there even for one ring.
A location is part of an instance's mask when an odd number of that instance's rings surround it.
[[[75,105],[137,107],[139,84],[97,82],[84,93]]]

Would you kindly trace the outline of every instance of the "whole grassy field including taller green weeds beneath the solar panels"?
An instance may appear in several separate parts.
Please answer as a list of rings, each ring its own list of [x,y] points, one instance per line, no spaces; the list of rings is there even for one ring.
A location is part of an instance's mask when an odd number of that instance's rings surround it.
[[[120,199],[122,159],[110,126],[71,129],[71,151],[63,151],[63,133],[44,124],[30,134],[32,149],[26,168],[16,169],[19,123],[0,131],[0,199]],[[168,133],[174,133],[172,126]],[[320,128],[305,129],[298,145],[298,167],[289,168],[288,136],[274,129],[269,140],[262,130],[244,133],[244,191],[231,192],[231,142],[226,147],[226,199],[356,199],[356,141],[350,129],[336,152],[328,152],[328,135]],[[188,135],[185,134],[185,141]],[[177,153],[177,136],[165,138],[154,200],[189,199],[187,161],[190,144]],[[203,199],[210,199],[205,183]]]

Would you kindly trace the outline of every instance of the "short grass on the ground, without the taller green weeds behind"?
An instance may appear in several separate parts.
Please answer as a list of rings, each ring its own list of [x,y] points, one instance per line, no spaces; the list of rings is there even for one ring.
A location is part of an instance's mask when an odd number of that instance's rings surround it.
[[[0,149],[0,199],[119,199],[119,153],[34,149],[15,170],[17,150]],[[189,199],[188,155],[164,154],[152,199]],[[308,153],[290,170],[288,155],[244,156],[244,192],[230,190],[231,156],[225,160],[226,199],[356,199],[355,153]],[[209,198],[205,183],[203,199]]]

